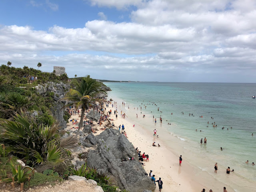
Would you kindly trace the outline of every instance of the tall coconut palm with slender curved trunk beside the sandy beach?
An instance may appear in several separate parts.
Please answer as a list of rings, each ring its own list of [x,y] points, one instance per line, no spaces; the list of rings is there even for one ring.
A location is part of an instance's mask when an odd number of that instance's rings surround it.
[[[72,101],[72,103],[63,106],[63,108],[75,105],[76,109],[82,109],[81,119],[76,133],[77,137],[79,130],[82,128],[85,111],[88,110],[90,106],[95,105],[95,100],[100,100],[94,98],[96,94],[104,91],[100,90],[101,85],[96,82],[96,80],[90,78],[90,75],[82,78],[80,83],[76,79],[74,79],[72,81],[72,84],[74,84],[74,89],[70,89],[66,94],[66,97],[60,100]]]

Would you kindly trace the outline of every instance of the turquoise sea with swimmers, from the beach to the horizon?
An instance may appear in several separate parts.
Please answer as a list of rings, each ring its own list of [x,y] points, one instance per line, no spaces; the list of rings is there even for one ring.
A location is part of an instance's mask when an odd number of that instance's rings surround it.
[[[112,89],[108,98],[118,101],[118,108],[120,106],[129,120],[152,131],[152,134],[156,128],[161,140],[174,154],[182,154],[192,166],[198,168],[196,174],[213,179],[214,184],[225,184],[236,192],[256,191],[256,166],[252,166],[252,162],[256,163],[256,99],[252,99],[252,95],[256,95],[256,84],[105,84]],[[125,106],[122,106],[122,101]],[[217,125],[215,128],[212,125],[214,122]],[[207,144],[201,145],[200,139],[204,137]],[[248,164],[245,163],[247,160]],[[214,173],[215,162],[218,162],[218,174]],[[235,170],[229,175],[226,174],[228,166]]]

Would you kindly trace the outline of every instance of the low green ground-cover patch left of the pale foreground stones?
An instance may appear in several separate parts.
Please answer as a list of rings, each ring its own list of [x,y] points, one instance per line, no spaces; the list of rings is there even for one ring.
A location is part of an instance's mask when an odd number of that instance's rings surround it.
[[[39,185],[41,186],[41,185],[45,185],[45,184],[53,185],[53,183],[55,184],[56,181],[60,182],[60,181],[62,181],[62,178],[56,177],[53,175],[43,175],[42,173],[35,172],[34,177],[32,177],[30,179],[30,187],[39,186]],[[26,184],[24,184],[24,187],[25,188],[28,187],[28,182],[26,182]]]

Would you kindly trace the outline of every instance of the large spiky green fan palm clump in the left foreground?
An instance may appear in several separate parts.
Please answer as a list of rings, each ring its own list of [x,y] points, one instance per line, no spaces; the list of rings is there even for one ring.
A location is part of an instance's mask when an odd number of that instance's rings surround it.
[[[38,164],[62,162],[64,148],[76,147],[77,139],[70,136],[59,140],[58,124],[41,122],[24,113],[16,114],[13,121],[1,121],[0,140],[8,144],[12,151],[26,160]]]

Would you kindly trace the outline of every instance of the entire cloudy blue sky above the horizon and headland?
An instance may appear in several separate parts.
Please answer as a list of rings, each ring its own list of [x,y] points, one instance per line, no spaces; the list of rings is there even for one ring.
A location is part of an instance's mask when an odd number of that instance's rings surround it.
[[[256,0],[0,0],[8,61],[69,77],[256,83]]]

